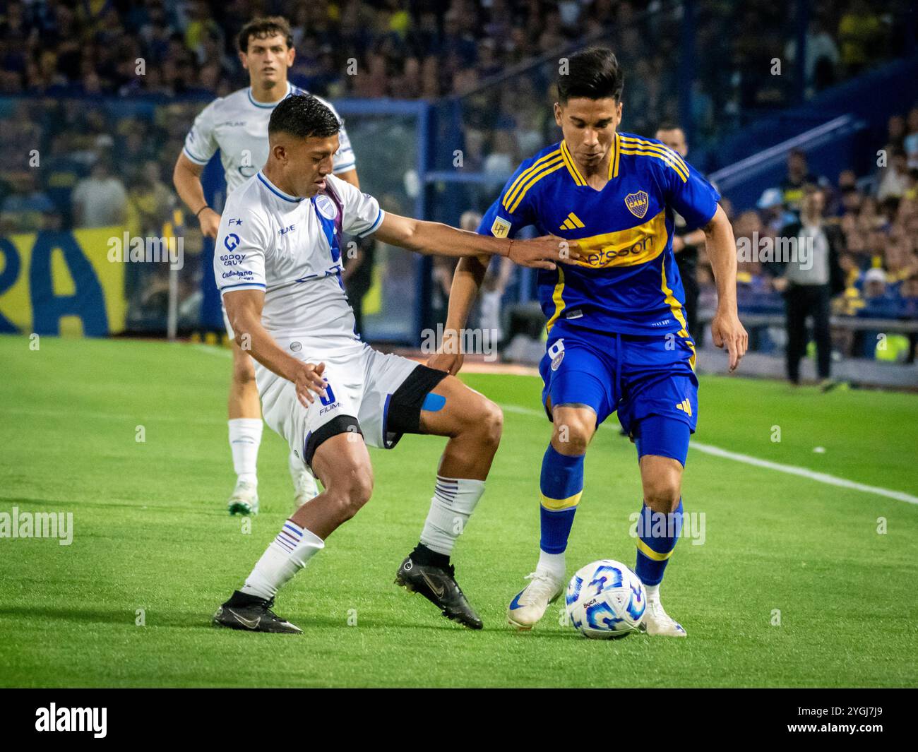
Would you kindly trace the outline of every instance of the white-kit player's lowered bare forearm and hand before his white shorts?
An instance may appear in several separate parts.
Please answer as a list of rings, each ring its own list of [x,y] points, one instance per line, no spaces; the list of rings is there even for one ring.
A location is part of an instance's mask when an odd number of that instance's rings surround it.
[[[223,305],[236,334],[236,344],[265,368],[296,384],[297,399],[305,407],[315,401],[310,392],[325,397],[325,382],[322,380],[325,364],[304,363],[285,353],[262,326],[263,290],[228,292],[223,296]]]

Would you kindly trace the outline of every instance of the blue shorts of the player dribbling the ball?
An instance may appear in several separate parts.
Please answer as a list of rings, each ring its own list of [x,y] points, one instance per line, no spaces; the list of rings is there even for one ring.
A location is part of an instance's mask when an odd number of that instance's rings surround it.
[[[551,407],[587,405],[596,412],[597,426],[618,412],[621,427],[636,440],[639,454],[671,456],[684,466],[689,434],[698,424],[694,363],[695,346],[688,337],[579,330],[558,321],[539,365],[543,405],[549,419]],[[684,423],[688,431],[655,431],[651,447],[640,440],[641,421],[650,416]]]

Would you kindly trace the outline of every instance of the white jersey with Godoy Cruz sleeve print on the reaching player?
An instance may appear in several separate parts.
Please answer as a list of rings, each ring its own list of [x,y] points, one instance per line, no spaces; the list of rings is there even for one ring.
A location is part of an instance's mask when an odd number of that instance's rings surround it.
[[[312,198],[289,196],[262,172],[227,198],[214,251],[222,297],[264,290],[262,323],[282,347],[333,353],[363,342],[341,284],[341,232],[364,236],[384,212],[373,196],[334,175]]]

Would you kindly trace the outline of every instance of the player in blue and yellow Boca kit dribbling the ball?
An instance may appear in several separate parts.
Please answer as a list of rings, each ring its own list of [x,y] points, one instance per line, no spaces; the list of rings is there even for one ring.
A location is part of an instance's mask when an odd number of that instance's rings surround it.
[[[673,213],[702,228],[717,282],[713,342],[730,370],[747,335],[736,312],[736,245],[717,191],[658,140],[618,131],[622,73],[610,50],[577,52],[558,77],[554,119],[563,140],[526,160],[488,209],[481,233],[510,237],[527,225],[577,241],[580,259],[538,273],[548,319],[540,365],[553,421],[542,463],[539,563],[510,602],[509,623],[531,629],[565,587],[565,548],[583,493],[584,456],[599,424],[618,412],[637,447],[644,505],[635,571],[647,590],[648,634],[685,636],[660,602],[660,582],[681,529],[682,471],[698,420],[695,343],[673,256]],[[460,261],[446,323],[459,337],[485,274]],[[461,342],[461,338],[459,339]],[[456,342],[428,365],[455,373]]]

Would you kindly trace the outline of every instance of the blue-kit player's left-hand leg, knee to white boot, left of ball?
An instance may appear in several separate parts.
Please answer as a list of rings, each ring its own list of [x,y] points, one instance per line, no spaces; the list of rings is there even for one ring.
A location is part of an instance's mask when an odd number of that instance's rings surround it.
[[[558,405],[552,418],[552,442],[543,458],[539,563],[507,609],[510,626],[521,630],[532,629],[565,588],[564,551],[583,488],[583,458],[596,433],[596,413],[586,405]]]

